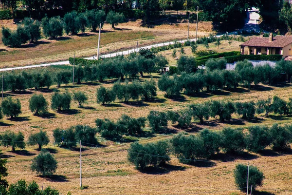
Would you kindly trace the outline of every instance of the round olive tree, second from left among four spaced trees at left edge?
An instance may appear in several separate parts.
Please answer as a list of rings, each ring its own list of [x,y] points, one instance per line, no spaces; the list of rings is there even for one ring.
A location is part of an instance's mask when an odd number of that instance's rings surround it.
[[[29,99],[29,109],[35,113],[35,116],[43,115],[48,112],[48,102],[42,94],[34,94]]]

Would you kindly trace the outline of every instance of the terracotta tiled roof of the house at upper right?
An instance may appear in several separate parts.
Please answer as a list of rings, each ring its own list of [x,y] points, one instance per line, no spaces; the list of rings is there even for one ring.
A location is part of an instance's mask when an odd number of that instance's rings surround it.
[[[254,47],[280,47],[292,43],[292,36],[275,36],[273,41],[270,42],[268,37],[255,37],[242,43],[240,46],[254,46]]]

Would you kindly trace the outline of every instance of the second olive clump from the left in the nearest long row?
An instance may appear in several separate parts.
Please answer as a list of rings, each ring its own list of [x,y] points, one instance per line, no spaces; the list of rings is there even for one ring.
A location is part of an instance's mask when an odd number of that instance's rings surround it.
[[[203,156],[203,141],[197,136],[178,134],[170,139],[170,143],[173,153],[182,163],[192,164],[193,160]]]

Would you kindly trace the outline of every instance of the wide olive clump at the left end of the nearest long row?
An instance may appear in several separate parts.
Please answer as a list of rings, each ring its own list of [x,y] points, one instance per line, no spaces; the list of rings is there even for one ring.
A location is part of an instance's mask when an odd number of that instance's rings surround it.
[[[146,143],[145,145],[135,142],[128,149],[128,160],[138,170],[145,170],[148,166],[163,166],[170,160],[168,148],[166,141]]]

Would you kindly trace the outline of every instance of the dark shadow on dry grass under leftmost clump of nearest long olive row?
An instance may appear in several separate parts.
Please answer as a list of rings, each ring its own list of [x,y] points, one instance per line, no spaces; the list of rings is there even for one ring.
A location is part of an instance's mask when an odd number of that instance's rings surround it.
[[[182,166],[176,166],[176,165],[170,165],[165,164],[161,167],[146,167],[145,170],[141,171],[141,173],[148,174],[148,175],[164,175],[168,174],[172,171],[184,171],[185,167]]]

